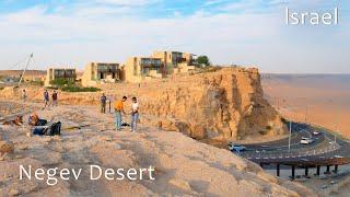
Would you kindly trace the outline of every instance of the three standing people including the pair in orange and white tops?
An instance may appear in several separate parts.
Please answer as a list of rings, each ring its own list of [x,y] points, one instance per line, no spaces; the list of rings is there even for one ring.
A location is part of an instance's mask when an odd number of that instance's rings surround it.
[[[128,100],[127,96],[122,96],[121,100],[117,100],[114,103],[114,114],[115,114],[115,127],[116,130],[121,130],[122,129],[122,115],[128,115],[125,109],[124,109],[124,103]],[[101,96],[101,113],[105,113],[106,112],[106,102],[107,102],[107,97],[106,95],[103,93]],[[136,97],[131,99],[131,111],[129,113],[129,115],[131,115],[131,123],[130,123],[130,131],[136,131],[137,129],[137,125],[139,121],[139,102]]]

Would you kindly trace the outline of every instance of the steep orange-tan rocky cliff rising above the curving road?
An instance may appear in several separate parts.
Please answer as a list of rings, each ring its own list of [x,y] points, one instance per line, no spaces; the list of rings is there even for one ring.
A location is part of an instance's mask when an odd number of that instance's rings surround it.
[[[165,121],[165,129],[174,129],[173,125],[195,138],[283,134],[280,116],[262,97],[256,69],[225,68],[175,77],[164,86],[143,101],[143,108],[156,116],[175,118]]]

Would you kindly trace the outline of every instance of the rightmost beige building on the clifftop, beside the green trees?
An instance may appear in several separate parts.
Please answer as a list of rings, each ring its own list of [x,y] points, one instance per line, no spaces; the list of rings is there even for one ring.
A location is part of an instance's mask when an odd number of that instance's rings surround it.
[[[194,56],[195,55],[192,54],[180,51],[154,51],[152,54],[153,58],[161,58],[162,62],[166,66],[166,69],[164,70],[166,73],[164,74],[194,70]]]

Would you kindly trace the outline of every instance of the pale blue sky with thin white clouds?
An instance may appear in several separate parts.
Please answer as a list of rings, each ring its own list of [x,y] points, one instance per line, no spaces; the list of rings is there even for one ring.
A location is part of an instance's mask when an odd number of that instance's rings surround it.
[[[337,25],[287,25],[285,8],[339,10]],[[261,72],[350,73],[349,0],[0,0],[0,69],[125,62],[153,50]]]

